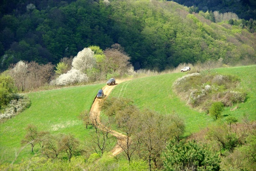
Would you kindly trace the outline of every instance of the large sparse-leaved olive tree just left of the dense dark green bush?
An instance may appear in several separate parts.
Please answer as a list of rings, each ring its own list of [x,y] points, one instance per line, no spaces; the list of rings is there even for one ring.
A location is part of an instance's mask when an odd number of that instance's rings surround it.
[[[167,140],[183,134],[184,124],[178,122],[179,119],[171,115],[161,115],[151,110],[145,110],[139,116],[140,131],[137,133],[137,137],[142,142],[141,148],[147,153],[148,165],[152,170],[152,162],[154,162],[155,168],[158,167],[158,160],[166,147]],[[175,122],[173,122],[174,120]],[[176,131],[175,128],[179,128],[179,131]]]

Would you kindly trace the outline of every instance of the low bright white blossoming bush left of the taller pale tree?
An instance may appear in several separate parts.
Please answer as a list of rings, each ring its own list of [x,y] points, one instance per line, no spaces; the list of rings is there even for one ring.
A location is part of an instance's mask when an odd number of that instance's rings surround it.
[[[88,77],[86,74],[82,73],[79,70],[71,69],[66,74],[60,75],[57,79],[51,82],[52,85],[57,86],[67,86],[80,82],[87,82]]]

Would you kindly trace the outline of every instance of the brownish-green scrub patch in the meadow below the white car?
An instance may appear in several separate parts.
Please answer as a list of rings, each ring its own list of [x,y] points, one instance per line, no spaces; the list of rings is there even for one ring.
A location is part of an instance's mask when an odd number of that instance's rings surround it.
[[[239,78],[232,75],[187,74],[174,82],[174,90],[187,104],[208,111],[214,102],[224,106],[244,102],[246,93],[237,91]]]

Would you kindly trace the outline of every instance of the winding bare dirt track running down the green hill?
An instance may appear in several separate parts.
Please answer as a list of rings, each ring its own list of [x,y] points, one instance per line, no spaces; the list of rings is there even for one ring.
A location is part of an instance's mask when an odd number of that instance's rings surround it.
[[[120,81],[118,81],[120,83]],[[110,94],[110,92],[116,87],[117,84],[115,84],[114,86],[105,86],[102,88],[103,92],[104,92],[104,95],[108,96]],[[99,106],[99,103],[100,103],[100,100],[101,99],[98,99],[98,98],[95,98],[94,102],[93,102],[93,105],[92,105],[92,108],[91,108],[91,111],[90,111],[90,118],[92,120],[92,122],[94,123],[95,122],[95,119],[96,119],[96,122],[98,124],[98,128],[100,130],[103,130],[103,131],[109,131],[110,134],[112,134],[113,136],[115,136],[117,138],[117,144],[116,146],[112,149],[111,153],[113,156],[116,156],[118,154],[120,154],[123,149],[120,147],[119,144],[125,144],[126,141],[126,136],[121,134],[121,133],[118,133],[114,130],[110,130],[108,127],[104,126],[103,124],[100,123],[100,106]]]

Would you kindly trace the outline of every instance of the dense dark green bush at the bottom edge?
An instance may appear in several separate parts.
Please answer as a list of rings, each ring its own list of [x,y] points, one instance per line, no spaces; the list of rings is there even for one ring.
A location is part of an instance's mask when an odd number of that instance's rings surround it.
[[[164,153],[165,170],[220,170],[218,154],[197,143],[170,141]]]

